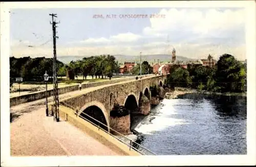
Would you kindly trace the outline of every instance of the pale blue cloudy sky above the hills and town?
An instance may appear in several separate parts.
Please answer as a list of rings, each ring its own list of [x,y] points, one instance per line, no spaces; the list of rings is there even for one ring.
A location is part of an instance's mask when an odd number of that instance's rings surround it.
[[[60,21],[57,56],[171,54],[175,48],[191,59],[225,53],[246,59],[244,8],[12,9],[10,56],[52,57],[49,13]],[[124,18],[129,14],[141,16]]]

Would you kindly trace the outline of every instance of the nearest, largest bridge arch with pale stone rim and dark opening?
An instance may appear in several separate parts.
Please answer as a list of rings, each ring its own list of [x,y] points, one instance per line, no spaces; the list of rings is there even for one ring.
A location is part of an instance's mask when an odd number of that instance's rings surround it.
[[[83,113],[86,113],[90,116],[92,116],[93,118],[95,118],[96,120],[98,120],[99,122],[105,124],[106,126],[110,126],[109,123],[109,114],[106,111],[104,105],[98,101],[92,101],[92,102],[88,102],[85,105],[83,105],[81,107],[81,109],[78,112],[79,116],[84,116]],[[90,120],[91,122],[95,123],[96,125],[98,125],[98,123],[96,123],[96,121],[94,121],[92,118],[89,118],[88,116],[86,117],[88,118],[88,120]],[[105,126],[100,126],[102,129],[105,129],[106,131],[109,131],[109,128],[106,128]]]

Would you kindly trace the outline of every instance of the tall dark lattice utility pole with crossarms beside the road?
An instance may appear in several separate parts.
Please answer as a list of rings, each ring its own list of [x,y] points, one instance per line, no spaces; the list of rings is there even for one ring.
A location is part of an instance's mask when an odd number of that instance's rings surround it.
[[[57,82],[57,74],[56,74],[56,24],[59,22],[56,22],[54,20],[54,17],[57,17],[57,14],[49,14],[52,16],[52,22],[50,21],[50,24],[52,25],[52,31],[53,31],[53,95],[54,95],[54,102],[53,102],[53,117],[54,121],[59,122],[59,96],[58,96],[58,82]]]

